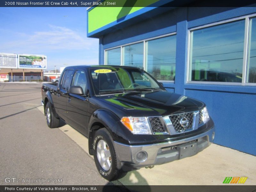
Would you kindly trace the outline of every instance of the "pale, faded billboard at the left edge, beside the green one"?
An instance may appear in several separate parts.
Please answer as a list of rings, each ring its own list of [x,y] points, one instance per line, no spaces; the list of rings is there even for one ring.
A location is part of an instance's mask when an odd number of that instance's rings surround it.
[[[0,68],[18,68],[18,55],[12,53],[0,53]]]

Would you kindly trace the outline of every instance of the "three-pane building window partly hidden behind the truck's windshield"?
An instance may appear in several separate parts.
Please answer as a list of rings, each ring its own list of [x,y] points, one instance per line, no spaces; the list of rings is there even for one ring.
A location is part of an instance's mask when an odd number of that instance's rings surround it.
[[[176,66],[176,35],[174,34],[105,50],[105,64],[139,67],[156,80],[174,81]],[[122,58],[121,62],[120,58]]]

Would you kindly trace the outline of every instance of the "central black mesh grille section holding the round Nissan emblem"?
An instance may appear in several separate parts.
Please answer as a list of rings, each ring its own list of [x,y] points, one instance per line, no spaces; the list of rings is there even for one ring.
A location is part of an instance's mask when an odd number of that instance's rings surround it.
[[[177,133],[181,133],[193,127],[194,113],[183,113],[169,116]],[[187,123],[186,123],[187,122]]]

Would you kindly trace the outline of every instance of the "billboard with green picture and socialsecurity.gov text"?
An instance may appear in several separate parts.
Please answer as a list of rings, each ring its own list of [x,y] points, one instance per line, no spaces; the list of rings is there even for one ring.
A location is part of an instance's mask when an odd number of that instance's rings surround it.
[[[46,69],[45,55],[19,55],[18,61],[21,69]]]

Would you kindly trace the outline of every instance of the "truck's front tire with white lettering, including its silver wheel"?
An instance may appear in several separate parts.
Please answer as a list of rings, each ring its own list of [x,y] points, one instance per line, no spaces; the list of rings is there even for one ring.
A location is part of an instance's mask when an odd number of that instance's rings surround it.
[[[121,162],[116,156],[113,139],[106,128],[95,133],[93,156],[100,175],[106,180],[113,181],[126,175],[127,172],[121,169]]]

